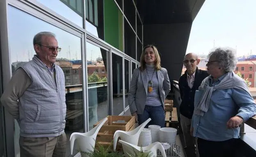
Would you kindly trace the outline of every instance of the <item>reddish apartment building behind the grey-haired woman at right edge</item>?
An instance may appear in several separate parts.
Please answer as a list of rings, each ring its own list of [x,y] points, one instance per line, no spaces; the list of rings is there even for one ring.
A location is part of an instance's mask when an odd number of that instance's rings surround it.
[[[236,64],[235,67],[235,73],[238,73],[238,71],[241,73],[242,78],[249,79],[250,87],[256,87],[256,61],[250,60],[250,61],[241,61]]]

